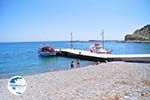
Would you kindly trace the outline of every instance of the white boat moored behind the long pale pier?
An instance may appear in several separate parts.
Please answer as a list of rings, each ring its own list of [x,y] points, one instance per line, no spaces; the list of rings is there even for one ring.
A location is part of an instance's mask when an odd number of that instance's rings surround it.
[[[111,54],[111,51],[104,49],[99,43],[95,43],[90,47],[90,52],[98,54]]]

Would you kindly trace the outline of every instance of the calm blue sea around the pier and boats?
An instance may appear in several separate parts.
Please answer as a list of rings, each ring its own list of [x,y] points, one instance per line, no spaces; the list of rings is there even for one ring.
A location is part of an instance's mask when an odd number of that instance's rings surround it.
[[[73,46],[76,49],[88,50],[94,43],[76,41]],[[0,78],[66,70],[70,68],[71,61],[76,60],[65,57],[39,57],[37,51],[43,45],[70,48],[68,41],[0,43]],[[105,41],[105,48],[113,54],[150,54],[150,43]],[[81,60],[80,63],[84,67],[93,62]]]

